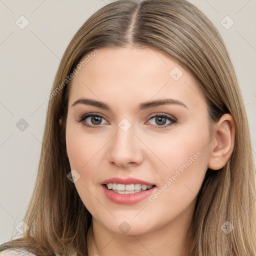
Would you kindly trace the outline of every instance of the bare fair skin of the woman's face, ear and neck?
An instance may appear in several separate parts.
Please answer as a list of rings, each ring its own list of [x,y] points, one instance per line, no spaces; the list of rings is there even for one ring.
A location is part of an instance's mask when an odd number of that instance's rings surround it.
[[[169,75],[174,67],[182,71],[177,80]],[[111,111],[72,106],[80,98],[103,101]],[[164,104],[137,110],[142,102],[164,98],[182,101],[186,107]],[[152,48],[100,48],[75,75],[66,148],[71,169],[80,175],[74,185],[92,214],[89,255],[186,255],[182,251],[188,242],[185,234],[205,172],[223,167],[234,146],[232,116],[224,114],[210,134],[203,98],[188,71]],[[91,117],[77,122],[91,112],[103,116],[99,127],[84,125],[96,126]],[[167,126],[171,121],[166,119],[161,128],[153,116],[162,113],[177,122]],[[118,126],[122,118],[131,124],[126,131]],[[158,190],[196,152],[200,152],[197,159],[153,202],[145,198],[135,204],[116,204],[102,192],[101,182],[115,176],[146,180]],[[130,226],[127,233],[118,228],[123,221]]]

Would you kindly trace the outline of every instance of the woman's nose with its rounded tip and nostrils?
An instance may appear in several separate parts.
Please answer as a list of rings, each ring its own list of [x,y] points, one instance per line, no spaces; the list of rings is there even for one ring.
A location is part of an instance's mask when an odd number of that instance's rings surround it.
[[[132,126],[126,131],[117,126],[116,134],[109,144],[108,160],[111,164],[129,167],[143,161],[142,142],[133,132]]]

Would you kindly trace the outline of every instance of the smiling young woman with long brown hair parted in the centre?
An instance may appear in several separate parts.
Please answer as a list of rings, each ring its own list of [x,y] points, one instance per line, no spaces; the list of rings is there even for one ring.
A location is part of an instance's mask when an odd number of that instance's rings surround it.
[[[221,37],[194,5],[99,9],[48,98],[29,228],[1,256],[255,255],[243,101]]]

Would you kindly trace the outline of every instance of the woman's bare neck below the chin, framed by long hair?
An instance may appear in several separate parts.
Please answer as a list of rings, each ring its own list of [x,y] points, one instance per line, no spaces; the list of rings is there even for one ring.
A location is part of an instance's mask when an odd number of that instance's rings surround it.
[[[138,235],[113,232],[92,217],[88,230],[88,256],[171,255],[187,256],[186,234],[191,223],[195,201],[179,216],[162,226]]]

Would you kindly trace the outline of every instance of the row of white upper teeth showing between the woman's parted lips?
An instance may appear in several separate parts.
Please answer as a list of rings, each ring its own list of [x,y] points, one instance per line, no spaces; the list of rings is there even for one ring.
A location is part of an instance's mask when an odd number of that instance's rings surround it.
[[[108,189],[116,190],[120,193],[131,193],[131,192],[139,192],[146,189],[150,189],[152,185],[146,184],[117,184],[117,183],[107,183],[106,184]],[[115,191],[115,192],[116,192]]]

